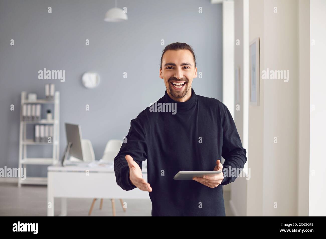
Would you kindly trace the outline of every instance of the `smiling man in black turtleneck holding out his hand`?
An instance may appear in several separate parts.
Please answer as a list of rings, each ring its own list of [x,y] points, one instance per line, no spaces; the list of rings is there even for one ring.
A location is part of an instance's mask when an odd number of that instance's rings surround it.
[[[222,186],[233,182],[247,161],[230,111],[219,100],[196,95],[191,88],[197,77],[196,58],[185,43],[165,47],[159,76],[165,94],[155,107],[131,120],[114,159],[117,184],[124,190],[149,191],[152,216],[225,216]],[[148,182],[141,173],[146,159]],[[179,171],[213,170],[223,173],[173,179]],[[238,173],[232,174],[233,170]]]

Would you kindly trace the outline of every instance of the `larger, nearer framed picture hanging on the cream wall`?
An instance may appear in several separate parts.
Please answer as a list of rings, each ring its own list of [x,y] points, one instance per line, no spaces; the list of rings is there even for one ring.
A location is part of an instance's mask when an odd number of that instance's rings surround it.
[[[249,105],[259,105],[259,37],[249,44]]]

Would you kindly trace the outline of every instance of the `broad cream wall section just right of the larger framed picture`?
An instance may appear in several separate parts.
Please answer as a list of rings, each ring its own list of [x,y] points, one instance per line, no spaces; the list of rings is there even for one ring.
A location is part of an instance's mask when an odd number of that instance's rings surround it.
[[[274,13],[277,7],[277,13]],[[264,68],[289,81],[264,81],[263,216],[297,216],[298,1],[264,1]],[[277,143],[274,143],[277,137]],[[277,208],[274,207],[277,204]]]

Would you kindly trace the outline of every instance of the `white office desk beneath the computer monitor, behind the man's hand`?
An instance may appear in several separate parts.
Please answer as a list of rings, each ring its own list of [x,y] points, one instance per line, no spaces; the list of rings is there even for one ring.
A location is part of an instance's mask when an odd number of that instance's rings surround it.
[[[77,163],[76,163],[77,164]],[[78,166],[48,167],[48,216],[54,216],[54,198],[61,199],[61,214],[67,216],[67,198],[149,199],[147,191],[138,188],[123,190],[117,185],[114,169],[85,163]],[[142,169],[147,182],[147,168]]]

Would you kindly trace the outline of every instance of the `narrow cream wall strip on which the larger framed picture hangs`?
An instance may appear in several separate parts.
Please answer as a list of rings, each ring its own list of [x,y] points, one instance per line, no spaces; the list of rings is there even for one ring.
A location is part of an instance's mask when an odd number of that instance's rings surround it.
[[[264,68],[264,1],[249,1],[249,42],[260,38],[260,67]],[[247,216],[262,216],[263,208],[263,107],[264,81],[260,78],[259,106],[249,105],[248,112],[248,168],[250,180],[247,180]],[[249,83],[249,82],[248,82]]]

